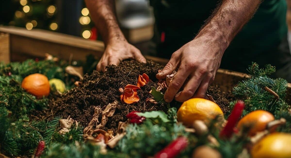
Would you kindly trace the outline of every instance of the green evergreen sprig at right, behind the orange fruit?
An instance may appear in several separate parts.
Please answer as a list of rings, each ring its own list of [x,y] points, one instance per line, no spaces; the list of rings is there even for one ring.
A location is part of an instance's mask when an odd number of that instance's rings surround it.
[[[288,109],[286,103],[286,91],[288,82],[282,78],[272,79],[268,75],[275,72],[275,67],[266,65],[264,69],[260,69],[259,65],[253,63],[249,66],[250,78],[238,82],[233,87],[233,95],[244,100],[246,108],[243,115],[253,110],[267,110],[276,113],[278,110]],[[272,89],[278,97],[266,90],[266,87]],[[233,106],[234,102],[230,103]]]

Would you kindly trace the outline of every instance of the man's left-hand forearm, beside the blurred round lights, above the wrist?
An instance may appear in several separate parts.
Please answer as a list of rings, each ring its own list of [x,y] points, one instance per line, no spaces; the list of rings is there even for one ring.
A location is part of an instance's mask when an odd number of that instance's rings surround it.
[[[85,2],[105,45],[114,40],[125,41],[114,13],[114,0],[85,0]]]

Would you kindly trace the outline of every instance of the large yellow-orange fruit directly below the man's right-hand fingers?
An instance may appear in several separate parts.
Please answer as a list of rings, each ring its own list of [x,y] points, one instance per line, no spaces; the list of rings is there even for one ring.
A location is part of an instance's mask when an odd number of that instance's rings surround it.
[[[217,116],[222,118],[221,121],[224,121],[221,108],[213,101],[203,98],[192,98],[185,101],[179,108],[177,116],[178,121],[183,122],[187,127],[191,127],[195,120],[208,123]]]

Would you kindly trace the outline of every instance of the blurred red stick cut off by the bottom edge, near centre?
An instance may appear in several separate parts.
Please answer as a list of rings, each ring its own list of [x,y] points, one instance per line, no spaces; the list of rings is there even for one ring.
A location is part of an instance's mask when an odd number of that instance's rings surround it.
[[[182,152],[188,145],[188,139],[186,137],[179,137],[172,141],[166,148],[159,151],[155,158],[174,158],[180,152]]]

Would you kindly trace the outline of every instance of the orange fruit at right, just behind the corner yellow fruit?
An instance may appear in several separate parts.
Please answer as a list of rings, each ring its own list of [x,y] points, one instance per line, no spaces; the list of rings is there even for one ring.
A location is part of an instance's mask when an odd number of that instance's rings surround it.
[[[245,115],[237,124],[237,128],[241,130],[243,127],[249,127],[249,135],[254,136],[257,132],[266,129],[270,121],[275,120],[274,115],[265,110],[255,110]]]

